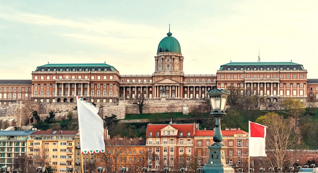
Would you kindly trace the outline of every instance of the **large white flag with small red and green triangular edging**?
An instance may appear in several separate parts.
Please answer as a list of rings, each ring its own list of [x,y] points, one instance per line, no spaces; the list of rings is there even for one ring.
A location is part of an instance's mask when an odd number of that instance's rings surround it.
[[[76,102],[81,153],[104,152],[104,122],[98,115],[98,108],[79,96],[76,96]]]

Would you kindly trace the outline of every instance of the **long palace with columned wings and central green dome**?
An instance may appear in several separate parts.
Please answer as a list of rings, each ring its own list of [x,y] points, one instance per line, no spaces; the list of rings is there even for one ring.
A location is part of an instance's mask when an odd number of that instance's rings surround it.
[[[144,96],[149,100],[202,99],[213,86],[240,87],[267,101],[294,97],[303,102],[318,98],[318,79],[307,79],[307,70],[294,62],[230,62],[215,75],[185,75],[184,57],[169,31],[158,44],[152,75],[120,75],[105,63],[44,64],[30,80],[0,80],[0,105],[19,100],[74,102],[75,96],[90,102],[116,103]]]

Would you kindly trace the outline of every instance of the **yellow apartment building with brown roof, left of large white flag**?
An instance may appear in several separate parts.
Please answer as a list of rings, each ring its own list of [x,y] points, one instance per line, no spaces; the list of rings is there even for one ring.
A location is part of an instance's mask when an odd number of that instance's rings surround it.
[[[56,172],[66,172],[67,167],[74,167],[77,133],[75,130],[34,131],[27,139],[27,156],[33,159],[34,165],[51,165]]]

